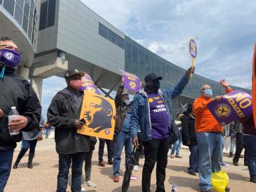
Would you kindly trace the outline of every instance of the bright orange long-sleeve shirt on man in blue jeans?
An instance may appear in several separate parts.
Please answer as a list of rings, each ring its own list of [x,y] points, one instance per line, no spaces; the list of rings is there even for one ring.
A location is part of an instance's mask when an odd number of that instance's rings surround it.
[[[226,93],[232,92],[233,89],[227,89]],[[207,104],[213,101],[213,98],[197,97],[193,103],[193,113],[195,114],[195,132],[223,132],[223,127],[219,125],[213,117]]]

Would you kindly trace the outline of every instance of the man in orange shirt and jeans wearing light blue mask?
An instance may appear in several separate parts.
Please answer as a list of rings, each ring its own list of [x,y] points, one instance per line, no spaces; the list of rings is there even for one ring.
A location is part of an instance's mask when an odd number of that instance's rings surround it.
[[[233,91],[224,79],[220,81],[220,84],[225,87],[226,93]],[[219,161],[222,157],[224,139],[221,135],[223,127],[213,117],[207,104],[213,100],[219,101],[223,96],[212,98],[213,91],[209,85],[203,85],[200,92],[201,96],[197,97],[193,103],[199,154],[199,186],[201,191],[211,192],[213,191],[211,172],[221,171]]]

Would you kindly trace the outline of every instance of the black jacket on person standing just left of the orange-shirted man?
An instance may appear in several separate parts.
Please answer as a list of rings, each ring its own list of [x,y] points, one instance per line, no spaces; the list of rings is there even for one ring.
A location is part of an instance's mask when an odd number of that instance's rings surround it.
[[[182,141],[183,145],[197,145],[197,137],[195,136],[195,118],[185,113],[181,118],[182,124]]]

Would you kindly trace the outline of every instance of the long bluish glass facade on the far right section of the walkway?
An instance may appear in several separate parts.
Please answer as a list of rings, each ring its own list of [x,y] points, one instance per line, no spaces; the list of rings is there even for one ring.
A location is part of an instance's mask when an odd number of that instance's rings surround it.
[[[185,69],[159,57],[129,37],[125,37],[125,71],[137,75],[143,82],[145,75],[149,73],[161,75],[163,77],[161,87],[163,88],[174,87],[185,75]],[[199,75],[193,75],[182,95],[196,98],[199,96],[201,85],[204,84],[210,85],[215,90],[215,95],[224,94],[224,90],[219,86],[219,83]],[[177,101],[179,101],[179,98]],[[173,102],[174,105],[177,105],[177,103]],[[179,107],[179,105],[176,107]]]

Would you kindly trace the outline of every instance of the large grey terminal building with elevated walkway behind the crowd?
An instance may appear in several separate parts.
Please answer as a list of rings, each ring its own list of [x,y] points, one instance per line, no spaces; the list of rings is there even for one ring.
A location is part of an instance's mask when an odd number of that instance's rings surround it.
[[[23,52],[18,73],[31,79],[39,98],[43,79],[63,77],[71,68],[86,71],[97,86],[110,91],[120,83],[119,69],[137,75],[141,81],[154,71],[164,77],[162,87],[176,85],[185,73],[185,69],[139,45],[79,0],[0,0],[0,26],[0,37],[11,37]],[[216,95],[224,93],[218,82],[193,75],[173,102],[173,109],[179,109],[179,103],[191,103],[204,84],[211,85]]]

